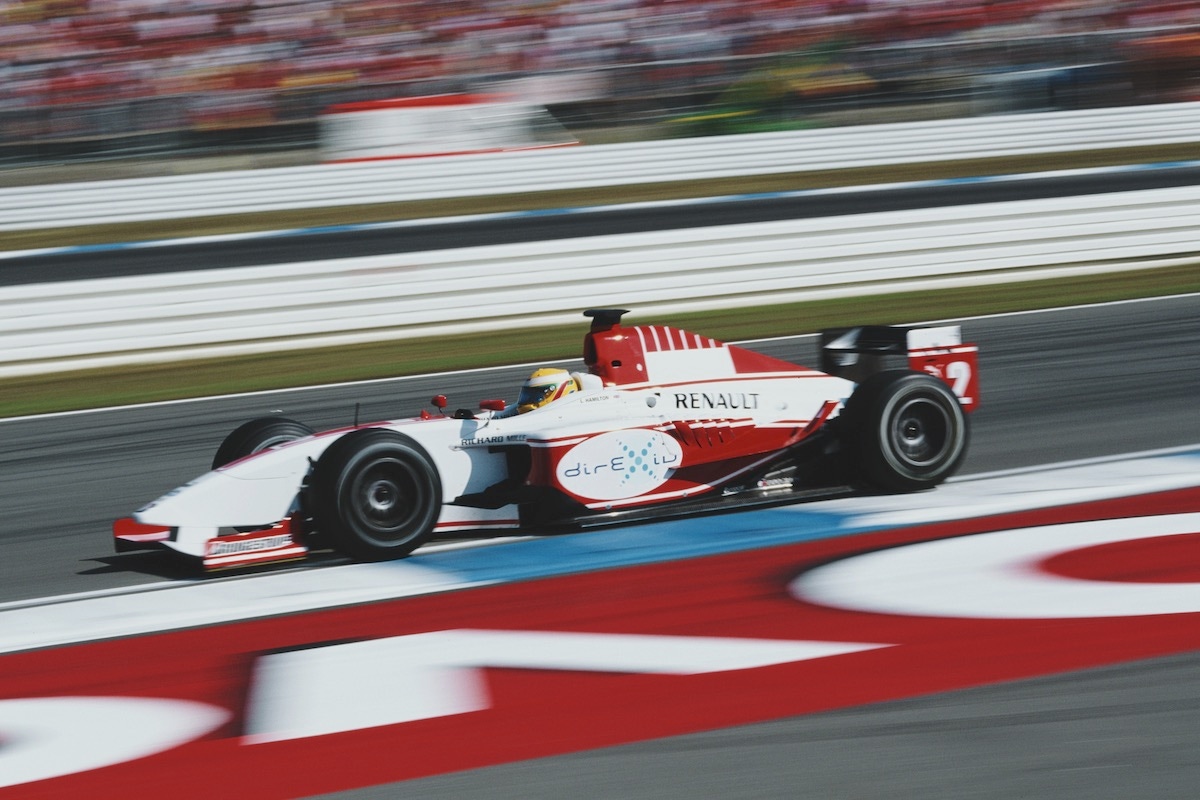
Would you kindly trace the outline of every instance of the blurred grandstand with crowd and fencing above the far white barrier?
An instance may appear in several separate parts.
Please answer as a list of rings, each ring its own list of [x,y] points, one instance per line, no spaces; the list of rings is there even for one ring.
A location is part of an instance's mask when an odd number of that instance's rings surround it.
[[[575,136],[1192,98],[1200,4],[0,0],[0,164],[313,149],[335,104],[505,91]]]

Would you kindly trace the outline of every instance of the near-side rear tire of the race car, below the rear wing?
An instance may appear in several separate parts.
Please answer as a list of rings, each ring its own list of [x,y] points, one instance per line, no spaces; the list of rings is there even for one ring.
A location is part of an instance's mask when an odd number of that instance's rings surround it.
[[[925,373],[889,369],[871,375],[851,395],[844,416],[852,470],[868,488],[932,488],[958,470],[967,452],[967,419],[959,398]]]

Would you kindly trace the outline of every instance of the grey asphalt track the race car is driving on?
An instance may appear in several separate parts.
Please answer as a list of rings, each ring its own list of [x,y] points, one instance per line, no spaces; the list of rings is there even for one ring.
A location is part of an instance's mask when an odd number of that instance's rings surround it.
[[[982,408],[964,473],[1200,443],[1200,295],[962,323],[980,345]],[[914,320],[917,321],[917,320]],[[586,320],[580,319],[580,336]],[[756,344],[815,365],[812,337]],[[209,469],[240,422],[313,428],[512,401],[529,367],[0,421],[0,602],[187,577],[161,554],[115,555],[109,527]]]

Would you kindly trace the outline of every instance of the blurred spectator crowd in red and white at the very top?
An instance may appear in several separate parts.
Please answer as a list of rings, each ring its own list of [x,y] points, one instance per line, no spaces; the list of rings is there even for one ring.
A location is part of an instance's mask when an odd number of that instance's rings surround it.
[[[0,0],[0,110],[1188,24],[1133,0]]]

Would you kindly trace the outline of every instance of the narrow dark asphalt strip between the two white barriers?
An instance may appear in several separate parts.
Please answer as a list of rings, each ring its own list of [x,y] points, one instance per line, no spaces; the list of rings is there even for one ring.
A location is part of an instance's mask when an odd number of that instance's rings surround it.
[[[94,247],[80,252],[11,258],[0,261],[0,285],[84,278],[186,272],[214,267],[288,264],[317,259],[412,253],[466,246],[698,228],[720,224],[832,217],[866,211],[900,211],[1004,200],[1032,200],[1105,192],[1192,186],[1200,168],[1163,164],[1121,172],[1013,176],[1003,180],[948,180],[868,192],[763,196],[702,204],[668,204],[611,210],[528,212],[452,223],[398,228],[312,229],[302,234],[259,236],[151,248]]]

